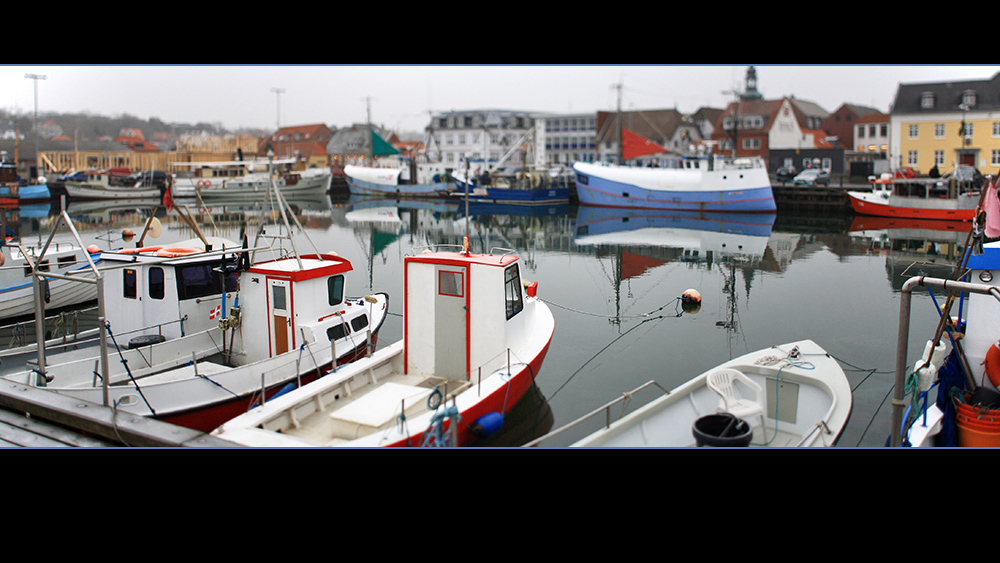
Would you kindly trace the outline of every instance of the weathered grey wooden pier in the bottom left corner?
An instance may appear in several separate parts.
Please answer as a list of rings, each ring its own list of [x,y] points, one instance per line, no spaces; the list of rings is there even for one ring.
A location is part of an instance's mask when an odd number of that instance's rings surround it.
[[[204,432],[0,381],[0,447],[240,447]]]

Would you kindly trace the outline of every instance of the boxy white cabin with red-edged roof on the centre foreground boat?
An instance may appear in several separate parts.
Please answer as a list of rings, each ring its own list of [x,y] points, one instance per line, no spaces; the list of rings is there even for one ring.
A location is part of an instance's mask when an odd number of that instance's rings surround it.
[[[507,352],[531,333],[516,256],[408,256],[404,277],[407,374],[475,381],[508,361],[527,361]],[[527,288],[529,295],[534,290]]]

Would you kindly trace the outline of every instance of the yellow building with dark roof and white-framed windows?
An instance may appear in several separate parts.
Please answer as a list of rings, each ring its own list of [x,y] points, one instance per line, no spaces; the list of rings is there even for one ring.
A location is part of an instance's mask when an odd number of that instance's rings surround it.
[[[1000,73],[988,80],[900,84],[890,112],[895,168],[941,174],[956,165],[1000,168]]]

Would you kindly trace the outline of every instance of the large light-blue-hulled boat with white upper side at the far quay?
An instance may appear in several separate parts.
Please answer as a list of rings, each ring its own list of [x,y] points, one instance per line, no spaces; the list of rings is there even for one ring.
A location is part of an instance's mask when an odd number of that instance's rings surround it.
[[[577,162],[573,170],[583,205],[701,212],[777,209],[759,158],[685,158],[679,168]]]

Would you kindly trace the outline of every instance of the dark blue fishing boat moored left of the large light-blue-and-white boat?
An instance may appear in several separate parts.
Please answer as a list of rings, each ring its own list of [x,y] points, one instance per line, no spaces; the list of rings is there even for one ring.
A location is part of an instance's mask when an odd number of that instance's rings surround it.
[[[480,175],[468,181],[463,172],[452,172],[452,177],[455,187],[447,195],[459,199],[468,198],[470,202],[517,205],[569,203],[569,188],[554,185],[545,170]]]

